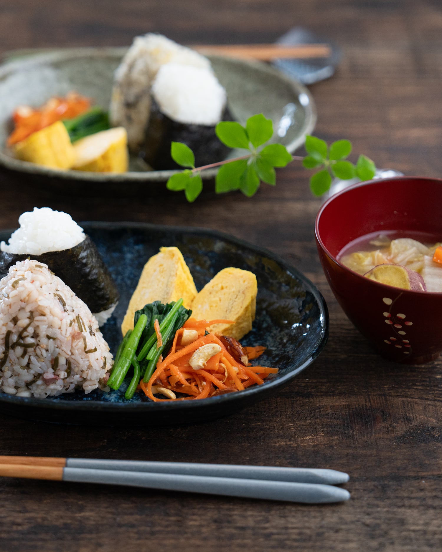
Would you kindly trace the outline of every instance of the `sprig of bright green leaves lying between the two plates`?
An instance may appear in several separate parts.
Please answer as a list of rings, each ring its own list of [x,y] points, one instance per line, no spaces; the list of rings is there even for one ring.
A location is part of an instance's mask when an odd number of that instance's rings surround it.
[[[172,159],[185,170],[173,174],[167,181],[167,188],[175,192],[184,190],[188,201],[196,200],[202,192],[201,171],[220,167],[215,178],[215,192],[222,194],[241,190],[251,197],[261,182],[276,184],[276,167],[285,167],[292,161],[302,161],[309,169],[320,168],[310,179],[314,195],[323,195],[330,188],[333,176],[347,180],[357,177],[361,181],[375,176],[376,166],[371,159],[360,155],[356,165],[346,161],[351,152],[349,140],[338,140],[328,147],[327,142],[315,136],[306,137],[306,157],[292,156],[282,144],[266,144],[273,136],[271,119],[262,113],[249,117],[243,126],[235,121],[221,121],[215,127],[221,142],[231,148],[245,150],[246,153],[234,159],[195,167],[195,157],[190,147],[181,142],[172,142]]]

